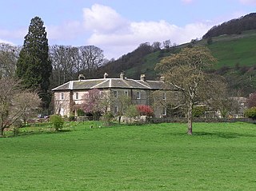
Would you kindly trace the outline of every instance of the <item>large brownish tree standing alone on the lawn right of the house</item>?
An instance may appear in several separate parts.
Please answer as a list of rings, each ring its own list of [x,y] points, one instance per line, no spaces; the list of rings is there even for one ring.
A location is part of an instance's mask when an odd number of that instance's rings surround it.
[[[156,66],[156,70],[160,70],[165,77],[166,84],[174,86],[184,97],[184,102],[176,106],[186,106],[187,133],[190,135],[192,135],[192,109],[194,105],[205,101],[202,100],[204,98],[202,94],[204,93],[203,82],[206,81],[207,74],[203,70],[214,61],[214,57],[206,47],[194,46],[163,58]]]

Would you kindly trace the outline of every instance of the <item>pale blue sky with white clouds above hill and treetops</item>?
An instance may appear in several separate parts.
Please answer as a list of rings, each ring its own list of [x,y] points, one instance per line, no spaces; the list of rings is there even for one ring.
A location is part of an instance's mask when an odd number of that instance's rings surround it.
[[[98,46],[120,58],[141,43],[202,38],[212,26],[254,13],[256,0],[0,0],[0,42],[21,46],[35,16],[49,45]]]

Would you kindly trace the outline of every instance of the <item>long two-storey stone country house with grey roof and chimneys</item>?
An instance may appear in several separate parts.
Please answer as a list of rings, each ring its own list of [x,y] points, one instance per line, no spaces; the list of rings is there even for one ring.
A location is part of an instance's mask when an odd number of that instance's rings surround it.
[[[54,88],[54,113],[69,117],[70,114],[77,115],[78,110],[74,105],[82,104],[85,94],[89,90],[100,90],[100,93],[109,97],[110,105],[108,111],[117,114],[122,108],[120,97],[130,97],[131,104],[134,105],[152,105],[150,95],[156,90],[162,90],[162,99],[166,99],[163,80],[150,81],[146,80],[144,74],[139,80],[129,79],[124,73],[120,74],[120,78],[107,78],[104,74],[103,78],[85,79],[79,76],[77,81],[66,82],[65,84]],[[166,115],[166,109],[159,107],[154,109],[155,117],[163,117]]]

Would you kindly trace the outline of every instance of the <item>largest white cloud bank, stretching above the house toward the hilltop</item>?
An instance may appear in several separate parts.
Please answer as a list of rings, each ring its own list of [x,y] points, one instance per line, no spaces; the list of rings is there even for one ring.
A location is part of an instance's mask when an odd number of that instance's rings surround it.
[[[84,9],[87,30],[93,34],[87,39],[91,45],[104,50],[107,58],[118,58],[136,49],[143,42],[163,42],[182,44],[191,39],[201,38],[213,24],[191,23],[176,26],[164,20],[158,22],[130,22],[107,6],[94,5]],[[102,18],[102,19],[101,19]]]

